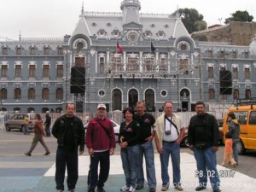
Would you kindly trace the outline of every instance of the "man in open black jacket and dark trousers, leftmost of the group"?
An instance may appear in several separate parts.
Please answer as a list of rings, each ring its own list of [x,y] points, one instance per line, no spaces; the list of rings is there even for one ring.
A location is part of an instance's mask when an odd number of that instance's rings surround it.
[[[84,125],[74,112],[74,103],[67,103],[66,113],[56,119],[52,126],[51,133],[58,143],[55,160],[55,183],[58,192],[64,191],[66,166],[69,192],[76,191],[79,179],[79,154],[84,153]]]

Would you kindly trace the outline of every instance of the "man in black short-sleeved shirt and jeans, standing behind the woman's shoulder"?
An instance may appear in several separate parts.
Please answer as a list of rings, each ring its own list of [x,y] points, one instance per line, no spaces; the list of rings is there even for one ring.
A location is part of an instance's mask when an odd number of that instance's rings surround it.
[[[154,116],[150,113],[145,113],[144,102],[137,102],[137,113],[133,119],[140,124],[140,137],[139,137],[139,158],[137,167],[137,186],[136,189],[143,189],[144,174],[143,174],[143,156],[146,161],[147,180],[149,191],[154,192],[156,188],[155,169],[154,169],[154,146],[153,139],[155,131]]]

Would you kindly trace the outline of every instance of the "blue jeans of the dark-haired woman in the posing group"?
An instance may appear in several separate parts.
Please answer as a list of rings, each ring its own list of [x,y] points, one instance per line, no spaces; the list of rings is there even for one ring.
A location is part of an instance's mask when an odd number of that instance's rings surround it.
[[[125,172],[125,183],[128,187],[135,187],[136,185],[138,155],[138,145],[121,148],[121,159]]]

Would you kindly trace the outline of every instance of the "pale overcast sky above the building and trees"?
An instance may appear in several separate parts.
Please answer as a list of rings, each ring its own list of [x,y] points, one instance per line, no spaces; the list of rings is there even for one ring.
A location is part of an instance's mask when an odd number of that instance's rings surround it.
[[[120,12],[122,0],[0,0],[0,41],[4,38],[62,38],[72,34],[84,11]],[[196,9],[208,26],[224,24],[236,10],[247,10],[256,21],[256,0],[140,0],[141,13],[172,14]],[[222,20],[221,20],[222,19]]]

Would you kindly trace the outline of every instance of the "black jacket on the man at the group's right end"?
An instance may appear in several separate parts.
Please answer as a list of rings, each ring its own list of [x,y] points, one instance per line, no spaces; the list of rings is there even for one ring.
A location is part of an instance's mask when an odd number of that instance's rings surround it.
[[[189,122],[189,145],[207,143],[208,146],[218,147],[218,122],[212,114],[195,115]]]

